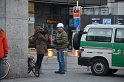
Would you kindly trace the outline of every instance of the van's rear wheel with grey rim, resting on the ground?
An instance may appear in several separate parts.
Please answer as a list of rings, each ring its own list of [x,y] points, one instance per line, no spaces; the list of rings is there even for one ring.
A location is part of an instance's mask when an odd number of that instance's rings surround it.
[[[104,59],[95,59],[91,63],[91,71],[94,75],[103,76],[108,73],[109,66]]]

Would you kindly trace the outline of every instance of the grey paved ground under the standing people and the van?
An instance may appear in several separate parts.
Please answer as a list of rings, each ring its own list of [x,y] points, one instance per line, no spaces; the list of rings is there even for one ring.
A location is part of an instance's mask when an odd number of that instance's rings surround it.
[[[36,57],[35,52],[30,55]],[[58,70],[58,63],[56,56],[44,57],[42,64],[43,74],[40,77],[35,77],[33,73],[28,74],[25,78],[4,79],[1,82],[123,82],[124,71],[117,72],[118,75],[99,77],[92,75],[87,67],[79,66],[77,64],[77,57],[70,52],[67,56],[67,72],[64,75],[55,74]]]

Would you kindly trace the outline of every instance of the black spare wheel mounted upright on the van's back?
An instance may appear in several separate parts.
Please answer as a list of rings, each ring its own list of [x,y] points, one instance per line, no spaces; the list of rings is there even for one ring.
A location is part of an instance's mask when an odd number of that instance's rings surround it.
[[[81,36],[82,36],[82,32],[78,32],[78,33],[76,33],[74,35],[74,38],[73,38],[73,48],[75,50],[79,50]]]

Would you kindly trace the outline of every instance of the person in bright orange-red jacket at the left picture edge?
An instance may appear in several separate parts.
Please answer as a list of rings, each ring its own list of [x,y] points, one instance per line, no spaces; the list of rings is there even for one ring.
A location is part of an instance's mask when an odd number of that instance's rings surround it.
[[[6,33],[3,31],[3,29],[0,28],[0,73],[2,71],[1,70],[2,59],[6,57],[7,54],[8,54],[8,42],[7,42]]]

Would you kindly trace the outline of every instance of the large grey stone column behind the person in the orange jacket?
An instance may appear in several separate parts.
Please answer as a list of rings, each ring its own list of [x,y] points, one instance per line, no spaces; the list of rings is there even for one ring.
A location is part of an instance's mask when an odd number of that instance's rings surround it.
[[[28,0],[0,0],[0,23],[9,42],[7,77],[27,77]]]

